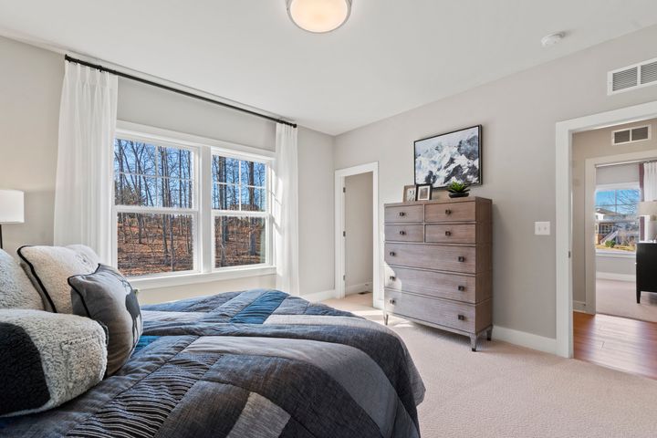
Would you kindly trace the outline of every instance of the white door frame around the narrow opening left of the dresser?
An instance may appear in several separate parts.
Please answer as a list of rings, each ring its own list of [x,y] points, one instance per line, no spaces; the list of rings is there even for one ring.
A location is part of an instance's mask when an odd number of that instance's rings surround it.
[[[345,178],[360,173],[372,173],[372,296],[373,305],[383,306],[381,293],[381,239],[379,229],[379,162],[368,162],[335,172],[335,289],[336,297],[345,297]]]

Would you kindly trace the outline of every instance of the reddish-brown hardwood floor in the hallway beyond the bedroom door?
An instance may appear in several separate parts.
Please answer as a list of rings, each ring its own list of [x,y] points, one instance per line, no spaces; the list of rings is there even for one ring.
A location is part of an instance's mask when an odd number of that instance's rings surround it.
[[[575,359],[657,380],[657,323],[573,312]]]

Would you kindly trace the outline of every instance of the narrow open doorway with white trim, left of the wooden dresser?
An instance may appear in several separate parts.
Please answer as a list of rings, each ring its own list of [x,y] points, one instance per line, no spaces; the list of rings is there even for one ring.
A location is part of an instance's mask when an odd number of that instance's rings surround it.
[[[371,305],[382,308],[379,163],[335,172],[336,297],[371,293]]]

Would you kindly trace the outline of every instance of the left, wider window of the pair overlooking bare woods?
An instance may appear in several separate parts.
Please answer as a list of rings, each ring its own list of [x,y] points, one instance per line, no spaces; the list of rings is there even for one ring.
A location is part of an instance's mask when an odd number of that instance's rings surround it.
[[[114,141],[116,254],[124,275],[194,270],[195,160],[180,147]]]

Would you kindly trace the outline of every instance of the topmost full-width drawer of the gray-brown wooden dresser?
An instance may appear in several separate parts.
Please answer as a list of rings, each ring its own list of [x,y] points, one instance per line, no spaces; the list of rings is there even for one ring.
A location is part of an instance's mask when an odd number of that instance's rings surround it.
[[[390,266],[420,267],[441,271],[476,273],[474,246],[385,244],[385,261]]]

